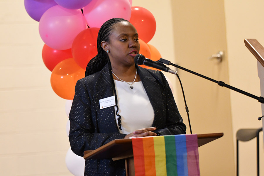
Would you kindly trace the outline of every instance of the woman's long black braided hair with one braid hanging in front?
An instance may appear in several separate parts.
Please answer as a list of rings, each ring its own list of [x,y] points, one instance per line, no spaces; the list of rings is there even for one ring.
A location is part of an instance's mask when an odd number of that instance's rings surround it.
[[[109,57],[107,55],[107,53],[103,50],[103,48],[101,47],[101,42],[105,41],[105,42],[109,42],[109,37],[111,35],[111,32],[114,30],[113,26],[116,23],[122,22],[122,21],[127,21],[123,18],[112,18],[108,21],[106,21],[100,28],[99,33],[98,33],[98,37],[97,37],[97,55],[92,58],[85,70],[85,77],[88,75],[92,75],[95,72],[99,72],[101,71],[104,66],[109,63],[109,70],[111,70],[111,63],[109,60]],[[129,21],[127,21],[129,22]],[[119,114],[117,114],[117,112],[119,111],[118,105],[117,105],[117,96],[116,96],[116,89],[115,89],[115,83],[114,83],[114,78],[113,75],[111,75],[111,80],[112,80],[112,85],[114,87],[114,94],[115,94],[115,101],[116,101],[116,115],[118,116],[117,121],[118,121],[118,126],[119,129],[121,130],[121,116]]]

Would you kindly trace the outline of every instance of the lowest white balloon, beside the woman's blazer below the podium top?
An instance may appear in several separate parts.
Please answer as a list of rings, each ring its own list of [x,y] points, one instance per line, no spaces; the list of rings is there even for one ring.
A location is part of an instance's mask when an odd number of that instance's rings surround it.
[[[65,163],[68,170],[75,176],[84,175],[85,160],[83,157],[72,152],[71,148],[67,151]]]

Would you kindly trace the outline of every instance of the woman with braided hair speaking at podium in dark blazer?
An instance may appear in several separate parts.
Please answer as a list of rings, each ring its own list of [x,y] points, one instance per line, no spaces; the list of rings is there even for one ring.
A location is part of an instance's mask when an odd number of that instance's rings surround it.
[[[98,54],[76,83],[69,115],[77,155],[114,139],[186,133],[163,73],[135,64],[139,49],[136,28],[127,20],[112,18],[101,26]],[[125,163],[86,160],[84,175],[125,175]]]

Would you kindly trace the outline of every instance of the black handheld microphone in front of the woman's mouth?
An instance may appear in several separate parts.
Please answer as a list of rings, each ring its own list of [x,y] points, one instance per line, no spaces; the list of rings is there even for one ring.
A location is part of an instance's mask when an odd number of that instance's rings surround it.
[[[146,65],[149,67],[157,68],[157,69],[165,71],[165,72],[172,73],[174,75],[177,74],[177,71],[171,70],[169,67],[166,67],[165,65],[163,65],[163,63],[159,63],[157,61],[150,60],[150,59],[146,58],[145,56],[143,56],[142,54],[137,54],[134,57],[134,61],[137,65]]]

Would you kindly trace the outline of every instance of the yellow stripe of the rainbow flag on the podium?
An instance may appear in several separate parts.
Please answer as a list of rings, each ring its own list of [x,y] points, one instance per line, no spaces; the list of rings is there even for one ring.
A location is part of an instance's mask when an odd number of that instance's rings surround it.
[[[153,137],[153,140],[155,150],[156,175],[167,176],[164,136],[155,136]]]

